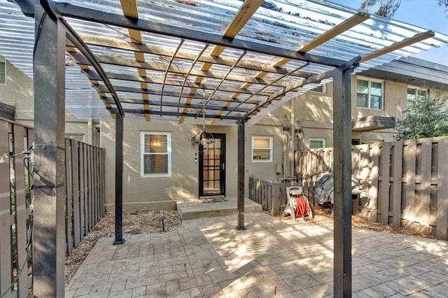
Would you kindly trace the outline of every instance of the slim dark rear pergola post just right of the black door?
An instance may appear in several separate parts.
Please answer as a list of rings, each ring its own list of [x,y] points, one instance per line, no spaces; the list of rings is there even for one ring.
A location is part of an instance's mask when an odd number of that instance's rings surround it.
[[[238,221],[237,229],[244,227],[244,122],[238,122]]]

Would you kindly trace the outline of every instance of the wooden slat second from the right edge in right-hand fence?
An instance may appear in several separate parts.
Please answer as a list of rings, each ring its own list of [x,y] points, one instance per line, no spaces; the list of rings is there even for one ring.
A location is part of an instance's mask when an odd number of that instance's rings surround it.
[[[419,199],[419,223],[423,225],[424,231],[429,229],[429,204],[431,186],[431,139],[421,139],[421,188]]]

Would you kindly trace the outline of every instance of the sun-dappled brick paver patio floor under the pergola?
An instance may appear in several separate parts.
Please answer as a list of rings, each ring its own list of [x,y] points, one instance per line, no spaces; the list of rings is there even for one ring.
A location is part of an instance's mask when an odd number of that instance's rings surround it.
[[[332,229],[246,214],[100,239],[66,297],[331,297]],[[447,297],[448,242],[353,229],[353,297]]]

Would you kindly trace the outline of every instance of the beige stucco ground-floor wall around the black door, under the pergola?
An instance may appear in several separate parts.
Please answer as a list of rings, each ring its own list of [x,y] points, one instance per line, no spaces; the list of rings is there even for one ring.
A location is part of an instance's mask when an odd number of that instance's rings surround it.
[[[176,201],[197,200],[199,197],[199,163],[197,146],[191,138],[202,130],[198,125],[144,122],[124,118],[123,136],[123,208],[127,211],[174,208]],[[207,132],[225,134],[225,196],[237,197],[237,126],[206,127]],[[106,210],[115,205],[115,136],[113,119],[101,122],[101,143],[106,148]],[[144,177],[141,175],[141,132],[171,133],[171,176]],[[252,136],[272,136],[272,162],[251,159]],[[282,159],[282,135],[280,125],[254,125],[245,127],[245,167],[254,176],[278,180],[276,165]],[[245,173],[246,181],[248,173]],[[248,183],[245,185],[248,192]]]

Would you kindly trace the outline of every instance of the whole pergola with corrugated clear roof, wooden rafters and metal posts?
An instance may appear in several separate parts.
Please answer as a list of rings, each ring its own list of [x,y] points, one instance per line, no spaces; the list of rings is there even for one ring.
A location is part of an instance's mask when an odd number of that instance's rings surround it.
[[[119,244],[125,116],[237,125],[237,229],[244,229],[245,125],[330,80],[334,293],[351,295],[351,73],[448,36],[319,0],[14,2],[35,22],[30,29],[17,6],[0,3],[9,34],[0,54],[34,77],[35,295],[64,293],[64,108],[78,118],[116,120]]]

